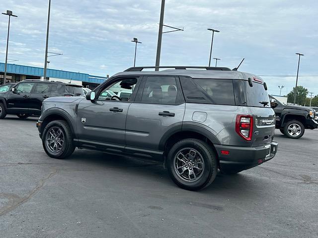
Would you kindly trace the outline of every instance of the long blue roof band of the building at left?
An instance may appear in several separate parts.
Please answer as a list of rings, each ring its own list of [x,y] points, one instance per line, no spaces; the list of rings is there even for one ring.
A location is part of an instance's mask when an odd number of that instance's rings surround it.
[[[40,68],[40,67],[7,63],[6,69],[8,73],[33,75],[33,76],[40,76],[40,77],[43,77],[44,75],[44,68]],[[1,63],[1,62],[0,62],[0,72],[4,72],[4,63]],[[89,82],[89,83],[102,83],[108,79],[107,77],[94,76],[94,75],[89,75],[87,73],[79,73],[79,72],[77,73],[77,72],[57,70],[57,69],[51,69],[51,68],[47,69],[46,75],[47,77],[51,77],[51,78],[77,80],[77,81],[83,81],[83,82]]]

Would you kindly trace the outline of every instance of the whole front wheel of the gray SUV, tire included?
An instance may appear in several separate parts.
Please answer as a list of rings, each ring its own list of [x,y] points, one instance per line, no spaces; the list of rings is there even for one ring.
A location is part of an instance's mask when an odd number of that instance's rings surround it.
[[[64,120],[53,120],[45,126],[42,144],[46,154],[55,159],[69,157],[75,150],[71,128]]]

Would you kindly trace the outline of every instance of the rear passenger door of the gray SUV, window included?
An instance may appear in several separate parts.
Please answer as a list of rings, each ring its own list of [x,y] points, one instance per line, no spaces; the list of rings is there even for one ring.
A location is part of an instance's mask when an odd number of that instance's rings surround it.
[[[126,150],[139,155],[160,154],[162,136],[172,128],[181,130],[184,111],[185,103],[176,77],[144,77],[127,114]]]

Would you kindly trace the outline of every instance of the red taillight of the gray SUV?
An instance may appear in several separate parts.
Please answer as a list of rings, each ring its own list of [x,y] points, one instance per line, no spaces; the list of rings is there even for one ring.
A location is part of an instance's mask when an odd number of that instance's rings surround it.
[[[253,117],[249,115],[238,115],[235,130],[243,139],[251,140],[253,133]]]

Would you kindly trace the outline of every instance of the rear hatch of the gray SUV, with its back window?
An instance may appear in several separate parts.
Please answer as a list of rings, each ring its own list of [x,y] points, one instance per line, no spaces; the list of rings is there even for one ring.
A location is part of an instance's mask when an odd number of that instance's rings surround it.
[[[263,81],[260,78],[251,77],[249,82],[244,82],[246,105],[253,116],[251,146],[269,144],[275,133],[275,113],[270,107],[269,97]]]

